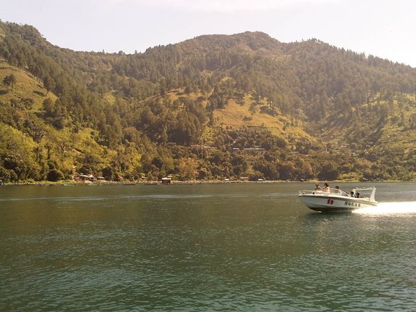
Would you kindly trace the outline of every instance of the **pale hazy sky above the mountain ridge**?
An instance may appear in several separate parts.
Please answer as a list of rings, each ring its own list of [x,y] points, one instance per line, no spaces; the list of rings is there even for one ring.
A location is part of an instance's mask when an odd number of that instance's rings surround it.
[[[413,0],[0,0],[0,19],[81,51],[132,53],[198,35],[263,31],[416,67]]]

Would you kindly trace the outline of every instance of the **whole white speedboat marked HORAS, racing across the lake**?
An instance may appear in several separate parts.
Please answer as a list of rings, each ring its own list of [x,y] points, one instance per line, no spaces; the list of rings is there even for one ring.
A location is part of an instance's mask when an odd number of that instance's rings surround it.
[[[371,191],[370,197],[361,197],[361,192]],[[351,211],[358,208],[376,207],[375,187],[359,187],[350,194],[340,189],[328,191],[299,191],[302,202],[315,211]]]

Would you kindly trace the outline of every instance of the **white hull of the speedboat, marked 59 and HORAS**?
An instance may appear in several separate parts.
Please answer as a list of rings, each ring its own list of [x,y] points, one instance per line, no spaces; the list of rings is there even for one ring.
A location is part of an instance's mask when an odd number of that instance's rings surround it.
[[[377,202],[364,198],[328,195],[299,195],[300,200],[314,211],[352,211],[358,208],[376,207]]]

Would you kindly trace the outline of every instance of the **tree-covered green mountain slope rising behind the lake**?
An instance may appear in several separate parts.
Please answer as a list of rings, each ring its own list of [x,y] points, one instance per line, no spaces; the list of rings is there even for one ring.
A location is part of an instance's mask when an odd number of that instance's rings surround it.
[[[0,23],[0,179],[415,180],[416,69],[319,40],[77,52]]]

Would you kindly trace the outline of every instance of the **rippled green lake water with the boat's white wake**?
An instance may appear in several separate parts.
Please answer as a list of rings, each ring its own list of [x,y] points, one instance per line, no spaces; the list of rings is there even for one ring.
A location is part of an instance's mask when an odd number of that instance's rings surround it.
[[[0,187],[0,311],[416,311],[416,184],[311,187]]]

